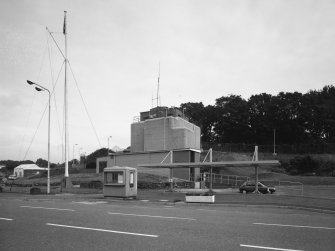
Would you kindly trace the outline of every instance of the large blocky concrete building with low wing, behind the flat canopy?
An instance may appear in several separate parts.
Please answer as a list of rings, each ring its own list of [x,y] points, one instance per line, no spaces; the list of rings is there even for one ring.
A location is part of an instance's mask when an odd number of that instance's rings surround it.
[[[131,147],[128,153],[113,153],[97,158],[96,172],[110,166],[137,167],[140,164],[181,163],[200,161],[200,128],[188,121],[177,108],[156,107],[141,112],[140,119],[131,124]],[[171,157],[172,156],[172,157]],[[167,169],[138,168],[138,172],[150,172],[169,176]],[[173,177],[193,180],[200,174],[199,168],[181,168],[173,171]]]

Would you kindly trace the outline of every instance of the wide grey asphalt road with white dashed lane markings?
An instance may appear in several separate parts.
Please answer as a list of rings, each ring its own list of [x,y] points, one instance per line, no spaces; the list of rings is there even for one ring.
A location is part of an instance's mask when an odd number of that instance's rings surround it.
[[[335,216],[303,210],[0,197],[0,250],[334,250]]]

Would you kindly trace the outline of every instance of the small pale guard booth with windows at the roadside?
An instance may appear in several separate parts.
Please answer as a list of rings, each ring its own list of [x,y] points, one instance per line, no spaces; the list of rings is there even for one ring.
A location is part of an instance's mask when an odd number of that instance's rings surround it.
[[[104,197],[137,196],[137,170],[133,167],[104,168]]]

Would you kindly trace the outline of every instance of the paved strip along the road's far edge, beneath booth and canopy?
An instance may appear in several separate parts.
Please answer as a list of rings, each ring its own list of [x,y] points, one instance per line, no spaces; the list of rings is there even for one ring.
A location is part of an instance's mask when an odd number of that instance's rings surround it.
[[[62,192],[52,190],[51,195],[29,194],[28,188],[15,188],[11,191],[4,189],[0,197],[6,195],[20,196],[40,199],[63,199],[63,200],[85,200],[85,201],[105,201],[112,202],[132,201],[139,203],[165,203],[173,205],[189,205],[193,203],[185,203],[185,194],[187,193],[204,193],[208,189],[175,189],[174,191],[159,189],[139,189],[136,198],[118,198],[104,197],[101,189],[84,189],[71,188],[63,189]],[[232,189],[214,189],[215,202],[212,206],[242,206],[242,207],[276,207],[276,208],[294,208],[309,211],[318,211],[323,213],[335,214],[335,199],[315,198],[306,196],[288,196],[276,194],[240,194]],[[43,189],[42,189],[42,192]]]

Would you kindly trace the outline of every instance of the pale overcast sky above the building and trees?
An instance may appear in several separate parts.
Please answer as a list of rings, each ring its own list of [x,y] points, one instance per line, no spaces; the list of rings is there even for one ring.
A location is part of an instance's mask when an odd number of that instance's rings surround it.
[[[1,0],[0,160],[47,159],[48,95],[29,79],[54,90],[50,160],[64,161],[64,59],[46,31],[64,52],[64,10],[70,159],[130,146],[159,72],[168,107],[335,82],[334,0]]]

